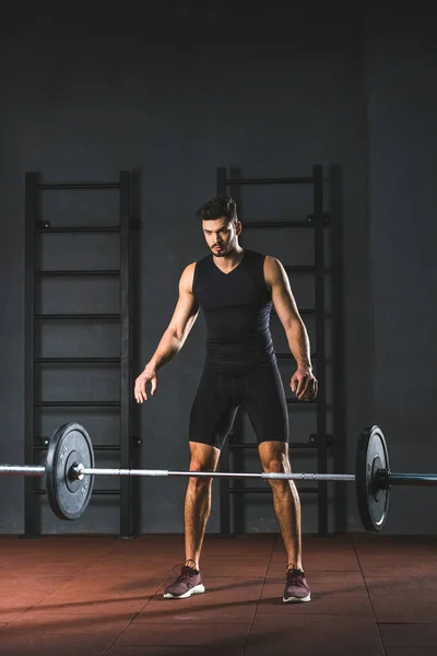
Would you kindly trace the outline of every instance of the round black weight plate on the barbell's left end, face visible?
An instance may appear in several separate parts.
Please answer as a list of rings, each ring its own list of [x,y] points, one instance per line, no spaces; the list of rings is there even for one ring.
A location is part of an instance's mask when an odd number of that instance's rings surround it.
[[[69,422],[52,434],[46,461],[47,496],[51,509],[60,519],[78,519],[90,503],[94,477],[70,480],[73,465],[94,467],[94,452],[90,435],[78,423]]]

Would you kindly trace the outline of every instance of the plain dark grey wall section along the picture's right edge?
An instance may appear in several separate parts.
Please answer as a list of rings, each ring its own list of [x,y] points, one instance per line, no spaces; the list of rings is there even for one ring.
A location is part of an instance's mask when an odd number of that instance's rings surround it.
[[[367,39],[374,409],[391,467],[435,471],[435,21],[371,16]],[[388,530],[436,532],[432,489],[399,489]]]

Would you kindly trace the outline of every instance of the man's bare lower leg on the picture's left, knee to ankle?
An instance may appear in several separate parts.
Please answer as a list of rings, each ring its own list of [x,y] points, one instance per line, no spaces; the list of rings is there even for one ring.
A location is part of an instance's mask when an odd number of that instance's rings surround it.
[[[190,442],[190,471],[215,471],[220,449],[208,444]],[[211,512],[212,478],[188,479],[185,499],[186,564],[199,570],[200,552]]]

